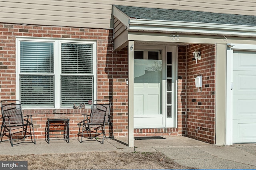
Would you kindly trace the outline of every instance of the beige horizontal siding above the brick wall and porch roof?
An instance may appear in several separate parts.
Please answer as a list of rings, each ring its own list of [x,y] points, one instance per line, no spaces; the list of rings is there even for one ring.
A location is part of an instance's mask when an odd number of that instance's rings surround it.
[[[256,0],[1,0],[0,21],[108,29],[112,4],[256,15]]]

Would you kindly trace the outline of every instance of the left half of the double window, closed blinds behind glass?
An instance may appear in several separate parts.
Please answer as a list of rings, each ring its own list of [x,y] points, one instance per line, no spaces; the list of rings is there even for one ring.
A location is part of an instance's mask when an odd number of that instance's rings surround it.
[[[20,42],[23,105],[54,107],[54,75],[49,75],[54,72],[53,50],[53,43],[49,42]]]

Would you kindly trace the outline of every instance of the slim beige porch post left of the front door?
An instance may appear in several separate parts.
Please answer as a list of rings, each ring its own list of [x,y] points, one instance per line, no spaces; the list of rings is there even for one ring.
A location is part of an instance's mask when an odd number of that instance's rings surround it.
[[[134,147],[134,41],[128,41],[128,146]]]

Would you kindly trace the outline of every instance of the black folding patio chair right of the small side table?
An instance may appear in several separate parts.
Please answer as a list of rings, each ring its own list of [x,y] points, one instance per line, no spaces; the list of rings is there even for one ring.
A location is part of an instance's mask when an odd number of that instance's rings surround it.
[[[78,123],[78,140],[81,135],[81,140],[84,134],[87,138],[95,138],[98,140],[99,136],[102,134],[102,144],[104,144],[104,137],[106,137],[105,126],[108,125],[109,135],[108,137],[114,138],[113,127],[111,122],[110,110],[112,102],[110,100],[96,100],[92,103],[90,114],[83,114],[84,120]],[[81,130],[82,127],[82,130]],[[86,131],[86,133],[84,133]]]

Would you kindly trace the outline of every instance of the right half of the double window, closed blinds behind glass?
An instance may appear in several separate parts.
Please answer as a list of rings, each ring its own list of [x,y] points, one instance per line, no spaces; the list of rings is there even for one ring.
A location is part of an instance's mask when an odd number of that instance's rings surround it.
[[[92,44],[62,43],[62,106],[73,105],[73,103],[87,103],[88,100],[92,100],[92,47]]]

